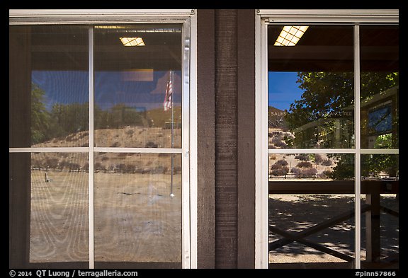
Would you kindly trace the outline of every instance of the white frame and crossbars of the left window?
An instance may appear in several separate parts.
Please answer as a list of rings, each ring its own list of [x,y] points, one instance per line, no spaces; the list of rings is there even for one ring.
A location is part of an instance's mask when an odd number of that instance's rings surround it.
[[[197,16],[194,9],[89,10],[11,9],[10,25],[182,23],[182,143],[180,149],[94,147],[93,29],[89,28],[89,147],[9,148],[10,153],[89,153],[89,173],[94,172],[94,152],[169,153],[182,156],[181,260],[183,268],[197,268]],[[89,268],[94,268],[94,175],[89,175]]]

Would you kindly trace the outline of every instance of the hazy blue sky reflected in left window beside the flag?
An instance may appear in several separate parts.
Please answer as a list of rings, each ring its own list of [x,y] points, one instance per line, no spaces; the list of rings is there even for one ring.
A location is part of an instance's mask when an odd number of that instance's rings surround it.
[[[153,71],[150,81],[132,81],[128,71],[96,71],[95,104],[108,110],[123,103],[144,107],[145,110],[162,108],[169,71]],[[174,71],[174,105],[181,105],[181,72]],[[51,110],[56,103],[88,103],[88,71],[32,71],[32,81],[45,91],[43,103]]]

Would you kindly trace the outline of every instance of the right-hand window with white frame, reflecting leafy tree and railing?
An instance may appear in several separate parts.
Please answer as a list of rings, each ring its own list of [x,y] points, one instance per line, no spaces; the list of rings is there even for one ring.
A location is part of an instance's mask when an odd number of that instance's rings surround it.
[[[345,14],[259,11],[257,267],[398,267],[398,21]]]

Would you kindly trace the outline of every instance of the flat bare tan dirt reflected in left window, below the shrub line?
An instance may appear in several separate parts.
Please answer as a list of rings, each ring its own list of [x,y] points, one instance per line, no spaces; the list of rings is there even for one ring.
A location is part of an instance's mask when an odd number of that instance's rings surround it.
[[[89,260],[88,173],[32,171],[30,262]],[[181,175],[95,173],[98,262],[181,261]]]

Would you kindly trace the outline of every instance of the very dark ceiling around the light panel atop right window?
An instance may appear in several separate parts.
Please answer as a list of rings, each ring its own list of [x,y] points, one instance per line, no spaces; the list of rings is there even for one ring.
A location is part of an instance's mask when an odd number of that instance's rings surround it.
[[[311,25],[297,45],[273,46],[282,28],[268,26],[269,71],[353,71],[352,25]],[[397,26],[361,26],[360,35],[362,71],[398,71]]]

